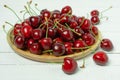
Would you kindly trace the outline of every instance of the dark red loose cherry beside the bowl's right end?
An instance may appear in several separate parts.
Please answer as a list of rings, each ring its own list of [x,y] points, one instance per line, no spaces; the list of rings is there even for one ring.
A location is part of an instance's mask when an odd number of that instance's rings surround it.
[[[100,47],[103,50],[111,51],[113,49],[113,44],[112,44],[111,40],[109,40],[109,39],[102,39],[102,41],[100,43]]]

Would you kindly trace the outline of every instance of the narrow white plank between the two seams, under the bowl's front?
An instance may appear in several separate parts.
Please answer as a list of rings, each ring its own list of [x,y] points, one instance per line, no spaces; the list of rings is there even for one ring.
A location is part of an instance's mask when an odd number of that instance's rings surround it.
[[[85,58],[86,67],[93,66],[97,67],[92,59],[93,54],[88,55]],[[108,53],[109,63],[107,66],[120,66],[120,54],[111,54]],[[78,64],[82,65],[82,59],[78,60]],[[41,63],[26,59],[22,56],[17,55],[16,53],[0,53],[0,65],[51,65],[52,63]],[[54,64],[54,63],[53,63]],[[55,63],[56,64],[56,63]]]

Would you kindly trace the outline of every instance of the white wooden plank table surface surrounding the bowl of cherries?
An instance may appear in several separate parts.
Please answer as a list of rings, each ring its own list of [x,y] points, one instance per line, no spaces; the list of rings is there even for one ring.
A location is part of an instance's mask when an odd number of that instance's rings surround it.
[[[106,66],[96,65],[93,60],[93,54],[87,56],[86,68],[79,70],[72,75],[64,74],[61,70],[62,64],[41,63],[28,60],[17,55],[6,40],[6,33],[2,29],[5,21],[15,24],[17,18],[9,10],[3,7],[4,4],[12,7],[19,16],[27,0],[1,0],[0,1],[0,79],[1,80],[119,80],[120,77],[120,0],[34,0],[41,9],[59,9],[70,5],[73,8],[73,14],[87,17],[87,14],[93,10],[105,10],[112,6],[112,9],[103,13],[109,19],[102,19],[97,26],[102,33],[103,38],[109,38],[114,45],[113,51],[106,52],[109,57],[109,63]],[[90,16],[89,16],[90,17]],[[11,27],[6,25],[6,31]],[[101,50],[101,49],[99,49]],[[82,65],[82,59],[78,60],[78,66]]]

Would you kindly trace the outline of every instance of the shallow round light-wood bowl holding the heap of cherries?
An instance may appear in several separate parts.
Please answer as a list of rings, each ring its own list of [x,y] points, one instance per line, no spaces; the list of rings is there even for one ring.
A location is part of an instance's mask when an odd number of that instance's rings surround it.
[[[11,37],[12,30],[13,29],[10,29],[8,34],[7,34],[7,40],[8,40],[9,45],[11,46],[11,48],[20,56],[23,56],[25,58],[35,60],[35,61],[40,61],[40,62],[63,62],[63,59],[65,57],[72,57],[74,59],[81,59],[81,58],[87,56],[88,54],[92,53],[93,51],[95,51],[97,49],[97,47],[99,46],[100,39],[101,39],[101,34],[99,32],[98,36],[96,37],[95,44],[92,45],[89,49],[86,49],[82,52],[74,53],[71,55],[56,57],[56,56],[50,55],[50,54],[37,55],[37,54],[30,53],[28,50],[21,50],[21,49],[17,48],[13,44],[13,41],[12,41],[12,37]]]

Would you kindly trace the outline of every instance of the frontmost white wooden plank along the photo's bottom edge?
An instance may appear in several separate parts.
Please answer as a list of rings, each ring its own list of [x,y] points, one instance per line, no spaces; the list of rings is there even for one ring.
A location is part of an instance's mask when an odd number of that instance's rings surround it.
[[[9,65],[0,66],[1,80],[119,80],[120,67],[87,67],[75,74],[64,74],[61,65]]]

